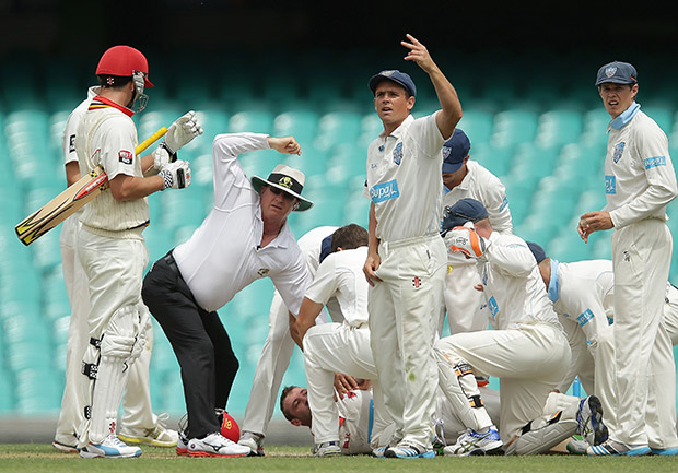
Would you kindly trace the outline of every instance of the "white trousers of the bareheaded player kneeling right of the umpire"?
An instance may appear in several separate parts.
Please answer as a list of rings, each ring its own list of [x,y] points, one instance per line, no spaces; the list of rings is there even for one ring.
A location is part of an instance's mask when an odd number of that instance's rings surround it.
[[[382,388],[370,347],[370,329],[344,323],[314,326],[304,335],[304,366],[315,442],[339,441],[339,412],[334,400],[335,373],[372,380],[373,439],[390,424],[384,419]],[[386,440],[387,441],[387,440]],[[377,441],[378,444],[378,441]]]

